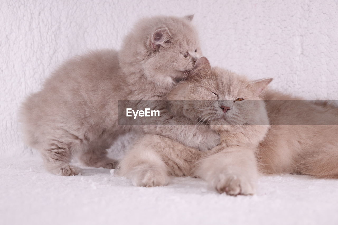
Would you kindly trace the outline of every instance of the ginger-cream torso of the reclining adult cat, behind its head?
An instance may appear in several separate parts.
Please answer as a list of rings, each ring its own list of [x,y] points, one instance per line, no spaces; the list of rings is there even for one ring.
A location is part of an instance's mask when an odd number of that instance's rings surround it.
[[[261,173],[338,178],[338,108],[267,91],[271,127],[259,145]]]

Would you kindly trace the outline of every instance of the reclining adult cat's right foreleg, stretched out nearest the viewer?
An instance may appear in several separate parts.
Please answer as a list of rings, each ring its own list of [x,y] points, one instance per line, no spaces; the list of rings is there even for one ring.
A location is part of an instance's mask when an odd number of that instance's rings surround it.
[[[207,180],[219,193],[255,194],[258,172],[254,150],[237,146],[216,152],[197,163],[195,174]]]

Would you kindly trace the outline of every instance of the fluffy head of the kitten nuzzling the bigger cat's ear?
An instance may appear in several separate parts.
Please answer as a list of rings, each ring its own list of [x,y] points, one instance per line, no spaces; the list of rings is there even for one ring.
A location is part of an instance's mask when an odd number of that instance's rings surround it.
[[[186,78],[202,55],[198,33],[191,24],[192,18],[153,17],[141,20],[134,32],[127,36],[122,49],[122,54],[126,56],[122,57],[129,61],[129,65],[136,59],[140,60],[136,63],[152,80],[179,81]]]

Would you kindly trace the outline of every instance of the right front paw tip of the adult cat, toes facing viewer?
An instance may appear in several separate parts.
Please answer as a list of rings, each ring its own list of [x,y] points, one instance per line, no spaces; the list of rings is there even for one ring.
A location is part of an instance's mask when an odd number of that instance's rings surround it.
[[[220,173],[212,181],[219,193],[227,195],[254,195],[255,183],[247,176],[234,173]]]

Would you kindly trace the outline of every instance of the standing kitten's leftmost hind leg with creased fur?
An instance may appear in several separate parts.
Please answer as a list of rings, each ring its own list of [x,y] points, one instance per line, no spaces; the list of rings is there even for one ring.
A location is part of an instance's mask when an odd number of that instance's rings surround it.
[[[40,148],[42,149],[40,152],[48,172],[61,176],[79,174],[80,168],[69,164],[72,154],[68,146],[63,142],[54,140],[48,147]]]

